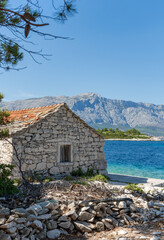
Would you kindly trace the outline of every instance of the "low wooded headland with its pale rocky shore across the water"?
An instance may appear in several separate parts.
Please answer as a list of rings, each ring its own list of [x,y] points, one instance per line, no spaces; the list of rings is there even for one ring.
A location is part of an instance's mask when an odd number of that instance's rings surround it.
[[[148,136],[141,133],[135,128],[122,131],[119,128],[102,128],[96,130],[105,140],[122,140],[122,141],[161,141],[157,137]]]

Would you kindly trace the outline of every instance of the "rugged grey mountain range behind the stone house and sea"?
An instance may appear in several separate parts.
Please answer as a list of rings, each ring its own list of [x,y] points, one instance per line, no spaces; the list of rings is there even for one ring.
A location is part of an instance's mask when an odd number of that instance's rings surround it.
[[[164,105],[113,100],[95,93],[84,93],[73,97],[42,97],[3,102],[1,106],[18,110],[63,102],[95,128],[119,127],[127,130],[135,127],[149,135],[164,136]]]

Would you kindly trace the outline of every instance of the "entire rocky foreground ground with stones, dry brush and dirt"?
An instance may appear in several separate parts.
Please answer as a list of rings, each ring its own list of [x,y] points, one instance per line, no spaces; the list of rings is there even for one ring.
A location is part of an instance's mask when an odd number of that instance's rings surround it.
[[[0,199],[1,240],[164,239],[163,188],[58,180],[29,198]]]

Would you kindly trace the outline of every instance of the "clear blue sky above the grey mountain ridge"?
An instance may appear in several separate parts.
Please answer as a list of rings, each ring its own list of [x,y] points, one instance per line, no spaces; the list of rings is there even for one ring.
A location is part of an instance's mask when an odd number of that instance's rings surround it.
[[[164,1],[77,0],[76,7],[67,23],[45,29],[74,40],[30,34],[35,48],[52,57],[36,64],[25,56],[25,70],[0,74],[5,100],[95,92],[164,104]]]

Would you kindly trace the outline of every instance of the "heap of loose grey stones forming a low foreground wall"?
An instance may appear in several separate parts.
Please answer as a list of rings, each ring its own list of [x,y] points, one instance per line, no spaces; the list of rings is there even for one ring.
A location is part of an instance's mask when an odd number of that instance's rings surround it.
[[[164,221],[164,204],[132,195],[116,199],[59,201],[52,197],[28,208],[0,205],[1,240],[58,239],[61,234],[112,230],[118,226]],[[132,196],[133,197],[133,196]]]

